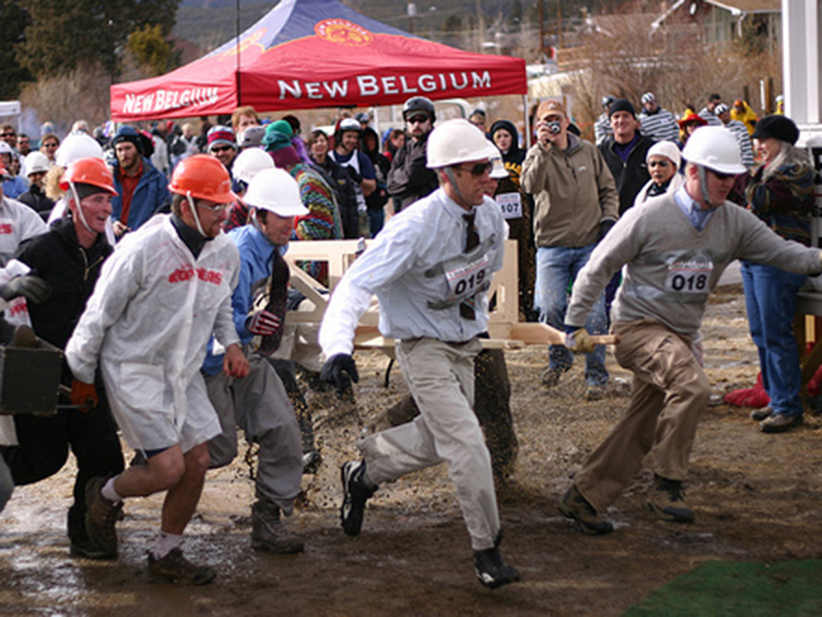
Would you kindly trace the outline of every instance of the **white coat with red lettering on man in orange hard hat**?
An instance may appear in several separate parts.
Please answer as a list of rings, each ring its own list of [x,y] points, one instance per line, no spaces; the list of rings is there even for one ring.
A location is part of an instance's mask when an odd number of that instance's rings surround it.
[[[104,263],[66,359],[86,383],[99,360],[114,417],[133,448],[180,443],[186,452],[219,434],[200,367],[211,332],[226,347],[239,341],[231,308],[239,262],[224,234],[195,260],[170,216],[158,215]]]

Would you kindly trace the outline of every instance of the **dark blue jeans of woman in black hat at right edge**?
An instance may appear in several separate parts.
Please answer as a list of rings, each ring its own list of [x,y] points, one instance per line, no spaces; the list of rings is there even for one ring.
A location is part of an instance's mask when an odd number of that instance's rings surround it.
[[[792,274],[761,263],[742,262],[742,285],[750,336],[760,352],[765,392],[774,414],[802,415],[799,397],[799,349],[793,336],[797,293],[804,274]]]

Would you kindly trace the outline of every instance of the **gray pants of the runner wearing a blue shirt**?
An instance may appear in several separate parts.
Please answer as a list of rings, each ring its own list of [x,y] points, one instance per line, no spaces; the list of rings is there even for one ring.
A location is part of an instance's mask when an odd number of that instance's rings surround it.
[[[237,456],[239,426],[248,441],[260,444],[256,495],[291,514],[302,478],[302,452],[297,416],[283,383],[260,355],[248,357],[244,378],[217,373],[205,378],[211,404],[223,432],[209,442],[211,467],[228,465]]]

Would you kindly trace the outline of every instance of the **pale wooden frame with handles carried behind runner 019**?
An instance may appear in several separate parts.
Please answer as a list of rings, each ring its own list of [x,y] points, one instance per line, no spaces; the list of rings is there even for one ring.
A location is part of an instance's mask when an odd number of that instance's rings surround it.
[[[369,244],[371,240],[366,240]],[[333,292],[345,271],[357,257],[358,240],[312,240],[293,242],[285,256],[291,271],[291,285],[298,289],[313,304],[310,311],[289,311],[286,322],[314,323],[322,321],[326,305],[330,299],[328,290],[315,281],[294,262],[309,260],[328,263],[329,286]],[[565,333],[544,323],[520,322],[520,297],[517,283],[517,250],[515,240],[506,240],[502,269],[494,275],[489,297],[496,295],[496,304],[489,313],[488,334],[483,346],[492,349],[522,349],[526,345],[563,345]],[[377,329],[379,304],[372,300],[371,306],[363,314],[354,336],[354,346],[358,349],[380,349],[393,355],[394,340],[386,339]],[[612,345],[617,336],[592,336],[594,342]]]

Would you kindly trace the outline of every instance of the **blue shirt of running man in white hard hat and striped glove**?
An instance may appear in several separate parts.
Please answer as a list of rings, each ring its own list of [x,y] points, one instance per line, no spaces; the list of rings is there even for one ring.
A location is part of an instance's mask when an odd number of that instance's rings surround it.
[[[237,245],[240,252],[240,278],[231,296],[234,311],[234,326],[240,337],[240,344],[251,342],[253,334],[246,329],[246,318],[252,308],[254,292],[260,285],[266,284],[271,276],[271,257],[275,246],[254,225],[242,225],[229,231],[229,238]],[[285,248],[280,249],[285,252]],[[205,356],[202,371],[208,376],[223,370],[224,354],[215,355],[211,348],[214,337],[209,341],[208,355]]]

